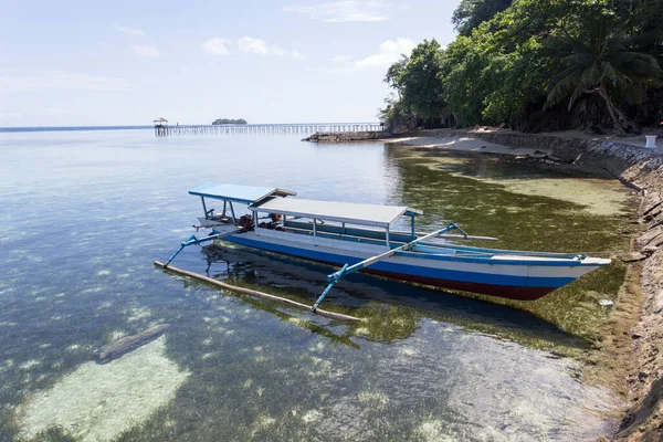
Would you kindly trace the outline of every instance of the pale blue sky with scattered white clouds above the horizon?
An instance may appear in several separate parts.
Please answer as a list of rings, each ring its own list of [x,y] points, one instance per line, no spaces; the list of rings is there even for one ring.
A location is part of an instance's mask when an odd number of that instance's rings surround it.
[[[0,0],[0,127],[377,122],[460,0]]]

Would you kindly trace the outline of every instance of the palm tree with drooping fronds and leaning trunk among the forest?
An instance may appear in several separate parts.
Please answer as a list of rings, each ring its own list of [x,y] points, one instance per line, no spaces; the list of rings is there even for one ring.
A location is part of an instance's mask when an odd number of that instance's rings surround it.
[[[561,59],[564,70],[552,78],[546,107],[570,94],[568,109],[571,110],[582,95],[597,94],[606,102],[614,128],[620,134],[639,131],[636,125],[614,104],[611,93],[656,83],[661,74],[656,59],[629,51],[625,30],[623,27],[617,28],[606,15],[596,14],[586,19],[583,24],[585,41],[571,36],[564,29],[564,51],[568,55]]]

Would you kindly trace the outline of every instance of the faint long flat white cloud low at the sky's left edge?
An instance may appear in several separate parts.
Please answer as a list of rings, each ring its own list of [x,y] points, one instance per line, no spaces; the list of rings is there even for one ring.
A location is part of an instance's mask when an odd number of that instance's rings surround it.
[[[0,71],[0,93],[43,90],[76,90],[88,92],[125,91],[123,78],[88,75],[67,71]]]

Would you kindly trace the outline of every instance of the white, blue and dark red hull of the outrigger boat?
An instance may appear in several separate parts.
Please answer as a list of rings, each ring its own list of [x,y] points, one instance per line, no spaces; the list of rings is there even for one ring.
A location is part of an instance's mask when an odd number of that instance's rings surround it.
[[[316,261],[335,266],[355,264],[385,248],[264,230],[229,235],[222,241]],[[400,281],[460,290],[519,301],[534,301],[604,263],[552,261],[546,265],[526,260],[459,259],[402,253],[361,272]]]

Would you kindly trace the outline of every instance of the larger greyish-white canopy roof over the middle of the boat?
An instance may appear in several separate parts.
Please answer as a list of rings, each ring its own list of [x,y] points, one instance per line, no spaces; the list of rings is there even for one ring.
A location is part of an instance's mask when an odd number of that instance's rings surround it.
[[[400,206],[359,204],[355,202],[316,201],[299,198],[275,198],[249,207],[251,210],[285,215],[347,222],[359,225],[387,228],[402,215],[422,212]]]

